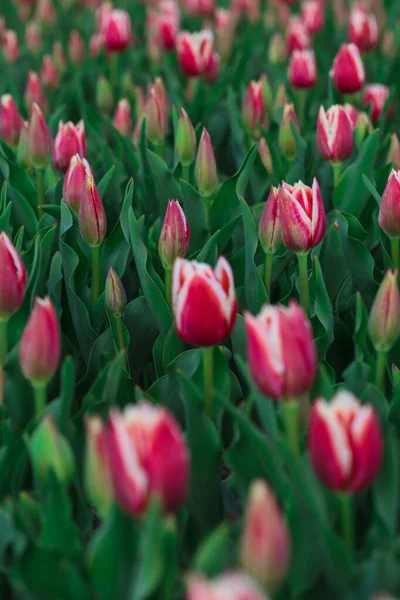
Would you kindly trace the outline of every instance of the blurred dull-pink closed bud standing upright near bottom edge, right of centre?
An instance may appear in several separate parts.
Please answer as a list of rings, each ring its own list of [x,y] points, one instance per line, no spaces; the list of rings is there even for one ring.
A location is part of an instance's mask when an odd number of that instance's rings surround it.
[[[243,569],[272,593],[284,578],[290,561],[290,535],[278,503],[266,481],[250,486],[240,542]]]

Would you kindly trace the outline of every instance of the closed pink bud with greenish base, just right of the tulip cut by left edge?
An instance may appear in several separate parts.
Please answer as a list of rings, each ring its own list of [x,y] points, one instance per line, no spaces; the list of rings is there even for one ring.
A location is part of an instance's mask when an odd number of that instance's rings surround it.
[[[60,362],[60,332],[50,298],[36,298],[19,345],[21,369],[33,385],[45,385]]]

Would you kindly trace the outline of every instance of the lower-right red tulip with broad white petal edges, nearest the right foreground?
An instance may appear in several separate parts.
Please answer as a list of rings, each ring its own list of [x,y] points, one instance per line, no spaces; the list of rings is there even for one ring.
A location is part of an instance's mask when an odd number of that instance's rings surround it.
[[[378,476],[383,456],[379,419],[371,405],[339,391],[311,411],[308,449],[318,478],[328,488],[356,493]]]

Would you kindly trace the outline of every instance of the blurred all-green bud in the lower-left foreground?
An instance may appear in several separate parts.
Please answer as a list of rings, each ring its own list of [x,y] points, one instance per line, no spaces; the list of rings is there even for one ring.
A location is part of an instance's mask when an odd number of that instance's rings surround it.
[[[74,455],[50,415],[46,415],[33,432],[29,452],[33,470],[42,482],[48,481],[51,471],[62,483],[71,481],[75,470]]]

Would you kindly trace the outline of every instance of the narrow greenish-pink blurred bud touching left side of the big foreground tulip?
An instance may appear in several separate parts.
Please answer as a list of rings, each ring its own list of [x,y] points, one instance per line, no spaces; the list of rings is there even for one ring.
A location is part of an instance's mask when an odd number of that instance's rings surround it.
[[[107,445],[100,417],[86,420],[85,488],[101,517],[106,517],[113,502],[111,473],[107,464]]]

